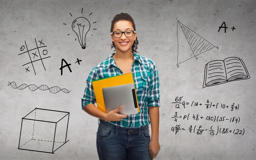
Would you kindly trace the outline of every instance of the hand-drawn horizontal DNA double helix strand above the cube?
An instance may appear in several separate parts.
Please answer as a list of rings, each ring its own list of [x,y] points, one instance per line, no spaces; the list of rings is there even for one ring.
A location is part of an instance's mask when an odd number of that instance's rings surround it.
[[[14,81],[12,81],[11,83],[8,82],[8,86],[11,86],[12,88],[14,89],[19,89],[19,90],[23,90],[25,89],[26,87],[29,88],[29,90],[31,91],[35,91],[37,89],[39,90],[49,90],[50,93],[58,93],[59,91],[62,91],[64,93],[70,93],[70,90],[67,90],[66,88],[63,88],[61,89],[60,87],[57,87],[57,86],[54,86],[54,87],[48,87],[47,85],[43,84],[41,86],[36,86],[35,84],[30,84],[30,85],[27,85],[27,84],[21,84],[20,86],[17,87],[16,83]]]

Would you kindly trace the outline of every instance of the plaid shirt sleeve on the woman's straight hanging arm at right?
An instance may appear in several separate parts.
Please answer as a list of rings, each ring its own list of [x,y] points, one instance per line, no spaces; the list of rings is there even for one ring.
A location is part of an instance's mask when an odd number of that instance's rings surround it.
[[[150,81],[150,93],[148,98],[148,107],[160,107],[160,91],[159,91],[159,77],[157,66],[151,61],[151,81]]]

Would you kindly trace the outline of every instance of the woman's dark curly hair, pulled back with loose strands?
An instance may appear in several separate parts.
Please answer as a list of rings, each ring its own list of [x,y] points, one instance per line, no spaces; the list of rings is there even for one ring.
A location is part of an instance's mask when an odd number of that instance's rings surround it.
[[[135,23],[134,23],[134,20],[133,18],[127,14],[127,13],[120,13],[120,14],[116,14],[116,16],[113,18],[113,20],[111,21],[111,28],[110,28],[110,32],[113,32],[113,28],[114,28],[114,25],[116,22],[118,22],[119,20],[128,20],[131,22],[133,28],[134,28],[134,31],[136,31],[136,28],[135,28]],[[136,53],[138,53],[138,51],[136,51],[138,49],[138,44],[139,44],[139,41],[138,41],[138,38],[136,37],[135,41],[134,41],[134,44],[131,46],[131,51],[134,51]],[[115,48],[116,49],[116,45],[114,42],[112,42],[111,44],[111,49],[112,48]],[[115,50],[116,51],[116,50]]]

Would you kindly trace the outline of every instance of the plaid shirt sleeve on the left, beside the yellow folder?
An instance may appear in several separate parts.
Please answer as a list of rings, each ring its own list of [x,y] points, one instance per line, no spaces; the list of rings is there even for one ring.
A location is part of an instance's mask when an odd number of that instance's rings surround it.
[[[95,104],[96,103],[96,98],[95,98],[95,94],[93,91],[93,85],[92,85],[92,81],[96,78],[97,78],[97,71],[96,71],[96,68],[94,67],[86,80],[86,87],[84,90],[84,95],[83,95],[83,98],[81,98],[82,109],[87,104]]]

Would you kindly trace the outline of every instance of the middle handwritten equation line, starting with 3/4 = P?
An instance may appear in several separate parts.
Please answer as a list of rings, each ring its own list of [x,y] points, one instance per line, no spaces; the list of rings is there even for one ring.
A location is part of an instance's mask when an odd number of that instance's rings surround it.
[[[188,120],[189,119],[192,119],[192,120],[195,120],[195,121],[199,121],[199,120],[206,120],[206,121],[213,121],[213,122],[221,122],[221,121],[229,121],[229,122],[234,122],[236,124],[238,124],[240,122],[240,117],[226,117],[226,116],[216,116],[216,115],[213,115],[213,116],[200,116],[198,114],[184,114],[184,115],[178,115],[177,112],[175,112],[174,116],[172,117],[174,118],[174,121],[177,122],[177,119],[181,118],[183,120]]]

